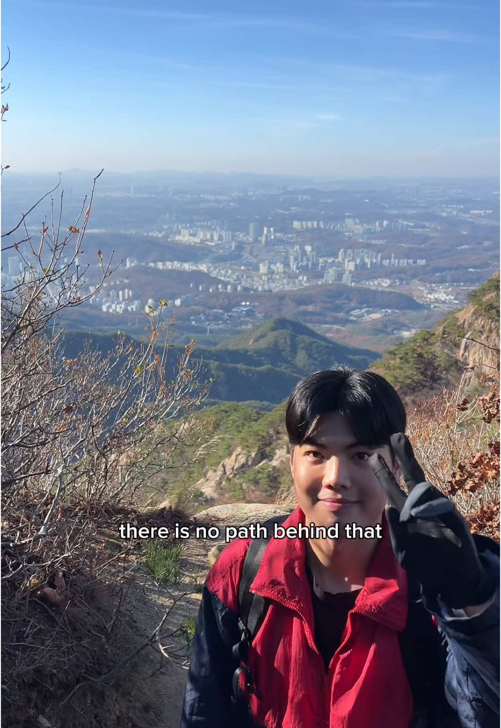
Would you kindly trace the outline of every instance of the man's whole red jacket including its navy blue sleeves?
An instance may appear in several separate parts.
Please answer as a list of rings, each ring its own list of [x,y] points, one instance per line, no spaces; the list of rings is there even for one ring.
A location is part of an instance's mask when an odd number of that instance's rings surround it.
[[[283,525],[304,521],[298,508]],[[452,614],[435,597],[425,595],[425,611],[438,625],[438,642],[446,640],[446,654],[431,644],[416,645],[415,665],[422,666],[419,652],[424,651],[434,677],[427,688],[431,711],[425,719],[411,719],[413,697],[398,641],[409,609],[407,578],[393,554],[384,515],[382,533],[327,675],[315,645],[306,542],[269,542],[250,587],[271,600],[248,658],[256,684],[256,695],[248,697],[257,727],[415,728],[416,720],[419,728],[499,726],[499,544],[474,537],[497,584],[484,612],[475,617]],[[237,595],[249,543],[250,539],[235,539],[229,544],[203,587],[181,728],[248,724],[236,716],[230,696],[238,666],[232,646],[240,638]],[[422,639],[414,634],[411,639]],[[409,647],[411,657],[412,644]]]

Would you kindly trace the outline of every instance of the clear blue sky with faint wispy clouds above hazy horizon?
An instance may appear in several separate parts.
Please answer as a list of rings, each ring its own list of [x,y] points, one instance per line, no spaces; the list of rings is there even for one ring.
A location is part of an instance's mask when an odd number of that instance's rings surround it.
[[[494,0],[4,0],[18,171],[497,175]]]

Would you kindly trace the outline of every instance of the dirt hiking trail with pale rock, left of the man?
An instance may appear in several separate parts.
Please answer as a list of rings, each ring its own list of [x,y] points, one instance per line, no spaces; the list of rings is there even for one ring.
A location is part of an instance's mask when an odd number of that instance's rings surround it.
[[[175,585],[167,585],[171,597],[177,598],[193,589],[194,582],[205,581],[209,567],[208,554],[215,545],[224,544],[225,526],[245,526],[263,523],[267,518],[291,509],[267,504],[232,504],[209,508],[197,514],[197,520],[210,519],[221,531],[219,539],[186,539],[181,556],[181,579]],[[125,604],[122,607],[122,633],[125,638],[124,655],[146,641],[162,620],[172,598],[164,589],[157,589],[151,581],[141,584],[135,579],[129,586]],[[177,628],[189,617],[197,618],[200,593],[192,593],[176,604],[165,625]],[[183,646],[181,637],[175,636],[169,643],[173,649]],[[82,713],[89,725],[103,728],[179,728],[183,707],[184,691],[188,670],[171,660],[160,660],[154,649],[144,649],[132,665],[119,678],[115,686],[105,689],[108,707],[107,715],[96,711],[92,716],[91,705],[82,705]],[[116,700],[114,696],[116,695]],[[93,702],[93,701],[92,701]],[[87,700],[87,703],[89,701]]]

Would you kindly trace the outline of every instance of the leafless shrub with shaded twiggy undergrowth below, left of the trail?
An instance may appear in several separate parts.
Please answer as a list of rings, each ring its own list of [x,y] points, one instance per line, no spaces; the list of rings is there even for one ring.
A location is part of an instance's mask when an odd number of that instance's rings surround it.
[[[58,185],[2,236],[2,253],[20,260],[1,291],[2,654],[12,705],[18,696],[28,705],[37,685],[69,692],[82,673],[110,669],[137,560],[133,544],[117,547],[118,524],[137,523],[134,506],[155,476],[175,464],[178,446],[197,443],[192,415],[207,393],[196,342],[170,361],[165,301],[146,319],[145,343],[117,334],[108,355],[92,341],[65,354],[60,314],[92,295],[79,261],[98,177],[65,232],[62,193],[36,244],[25,223]],[[116,269],[112,258],[98,252],[94,293]],[[162,525],[174,517],[183,523],[170,510]]]

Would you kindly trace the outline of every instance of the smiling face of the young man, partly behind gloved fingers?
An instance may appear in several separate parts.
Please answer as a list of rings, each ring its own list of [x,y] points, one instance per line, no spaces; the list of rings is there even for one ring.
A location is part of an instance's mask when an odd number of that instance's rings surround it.
[[[327,414],[306,442],[291,454],[291,472],[299,507],[307,523],[376,526],[386,504],[386,495],[368,464],[374,452],[381,454],[398,479],[390,448],[369,448],[357,443],[344,416]]]

